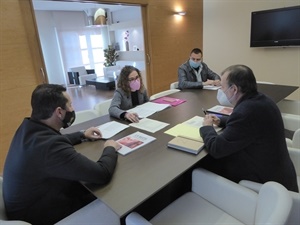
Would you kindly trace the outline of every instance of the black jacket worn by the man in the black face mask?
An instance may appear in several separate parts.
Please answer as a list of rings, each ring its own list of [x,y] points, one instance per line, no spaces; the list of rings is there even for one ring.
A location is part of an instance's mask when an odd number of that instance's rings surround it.
[[[81,133],[62,135],[47,125],[24,119],[4,166],[3,197],[9,219],[53,224],[93,197],[80,181],[110,181],[117,153],[106,147],[97,162],[76,152]]]

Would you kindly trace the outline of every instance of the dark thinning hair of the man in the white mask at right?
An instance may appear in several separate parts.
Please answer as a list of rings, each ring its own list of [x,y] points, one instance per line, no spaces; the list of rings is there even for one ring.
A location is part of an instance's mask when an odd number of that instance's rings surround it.
[[[242,93],[257,93],[256,79],[253,71],[245,65],[233,65],[225,69],[221,75],[228,72],[228,87],[235,84]]]

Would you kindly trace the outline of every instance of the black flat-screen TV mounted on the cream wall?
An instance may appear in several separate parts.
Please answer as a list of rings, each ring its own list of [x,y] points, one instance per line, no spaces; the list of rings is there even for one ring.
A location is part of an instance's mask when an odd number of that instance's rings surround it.
[[[251,13],[250,47],[300,46],[300,6]]]

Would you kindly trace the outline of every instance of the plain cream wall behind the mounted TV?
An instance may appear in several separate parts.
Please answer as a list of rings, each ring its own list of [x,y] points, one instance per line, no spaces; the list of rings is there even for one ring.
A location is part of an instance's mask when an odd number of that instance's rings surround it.
[[[203,58],[220,73],[249,66],[257,80],[300,86],[300,47],[250,48],[251,12],[300,5],[300,0],[204,0]],[[300,90],[289,99],[300,100]]]

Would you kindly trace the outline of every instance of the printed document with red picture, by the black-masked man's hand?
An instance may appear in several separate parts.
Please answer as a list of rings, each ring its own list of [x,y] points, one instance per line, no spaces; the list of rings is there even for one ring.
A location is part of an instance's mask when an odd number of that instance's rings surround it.
[[[121,145],[121,149],[118,150],[118,153],[121,155],[127,155],[154,140],[156,140],[155,137],[137,131],[117,140],[117,142]]]

